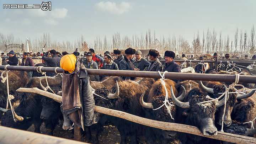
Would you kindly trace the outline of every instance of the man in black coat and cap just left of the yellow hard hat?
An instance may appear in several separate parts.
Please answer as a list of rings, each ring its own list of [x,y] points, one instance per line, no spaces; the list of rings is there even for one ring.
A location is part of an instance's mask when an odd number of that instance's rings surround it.
[[[52,57],[47,57],[47,55],[50,55]],[[60,57],[58,57],[58,55],[56,55],[56,50],[52,49],[52,50],[48,50],[42,57],[42,59],[44,60],[44,62],[47,62],[47,66],[48,67],[60,67]],[[53,76],[55,73],[48,73],[48,76]]]

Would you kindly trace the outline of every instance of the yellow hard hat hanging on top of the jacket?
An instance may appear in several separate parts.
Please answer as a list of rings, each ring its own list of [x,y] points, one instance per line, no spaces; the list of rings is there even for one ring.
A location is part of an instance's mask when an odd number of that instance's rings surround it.
[[[66,54],[60,59],[60,67],[72,73],[75,70],[76,56],[74,54]]]

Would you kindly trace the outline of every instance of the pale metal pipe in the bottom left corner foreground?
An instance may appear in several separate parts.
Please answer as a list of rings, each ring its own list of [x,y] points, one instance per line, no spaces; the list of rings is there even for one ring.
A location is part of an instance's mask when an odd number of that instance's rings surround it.
[[[0,126],[1,144],[88,144],[50,135]]]

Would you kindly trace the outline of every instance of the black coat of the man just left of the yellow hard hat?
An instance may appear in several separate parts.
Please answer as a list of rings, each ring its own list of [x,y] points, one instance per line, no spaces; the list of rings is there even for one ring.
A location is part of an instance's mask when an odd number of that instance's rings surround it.
[[[47,57],[48,52],[46,52],[42,59],[47,62],[47,67],[60,67],[60,57],[58,55],[53,55],[52,57]]]

